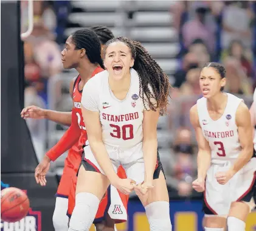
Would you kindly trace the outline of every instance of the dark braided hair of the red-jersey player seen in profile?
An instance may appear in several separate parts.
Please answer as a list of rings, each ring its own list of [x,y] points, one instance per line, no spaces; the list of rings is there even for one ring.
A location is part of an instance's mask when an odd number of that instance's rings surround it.
[[[72,33],[72,42],[75,49],[85,49],[91,63],[98,63],[103,69],[103,61],[100,56],[100,40],[92,30],[81,29]]]

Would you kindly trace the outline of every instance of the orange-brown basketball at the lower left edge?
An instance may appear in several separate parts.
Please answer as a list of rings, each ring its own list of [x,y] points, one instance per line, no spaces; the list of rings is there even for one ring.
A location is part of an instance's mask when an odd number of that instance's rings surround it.
[[[4,188],[1,190],[1,219],[6,222],[16,222],[29,212],[29,198],[19,188]]]

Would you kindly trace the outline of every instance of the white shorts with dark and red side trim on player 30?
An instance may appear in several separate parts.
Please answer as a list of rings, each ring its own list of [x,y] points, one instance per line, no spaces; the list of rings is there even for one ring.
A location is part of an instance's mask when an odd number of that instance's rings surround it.
[[[143,157],[141,157],[141,156],[143,156],[142,153],[137,153],[137,156],[139,157],[138,159],[134,158],[134,155],[135,154],[133,154],[133,158],[132,158],[133,161],[128,162],[128,163],[127,162],[123,163],[117,159],[111,159],[111,162],[112,162],[112,166],[116,172],[117,172],[117,168],[119,168],[119,166],[122,165],[122,167],[125,169],[127,178],[133,179],[136,182],[136,184],[139,184],[144,181],[144,176],[145,176],[144,159],[143,159]],[[84,148],[82,164],[85,167],[85,169],[88,171],[97,171],[97,172],[105,175],[104,171],[102,170],[102,168],[98,164],[97,160],[95,159],[94,154],[92,153],[89,145]],[[159,178],[159,174],[160,174],[161,170],[164,173],[161,161],[159,159],[159,154],[157,151],[156,169],[154,171],[154,176],[153,176],[154,179]]]

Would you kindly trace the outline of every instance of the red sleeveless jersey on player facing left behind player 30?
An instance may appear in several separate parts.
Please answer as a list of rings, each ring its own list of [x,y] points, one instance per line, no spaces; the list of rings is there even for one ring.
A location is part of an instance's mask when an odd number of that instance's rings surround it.
[[[102,71],[104,71],[104,69],[102,69],[102,67],[97,67],[94,70],[94,72],[92,73],[92,77],[94,77],[94,75],[96,75]],[[77,123],[78,123],[79,128],[81,129],[81,135],[78,140],[78,145],[74,145],[72,147],[72,149],[77,152],[83,151],[83,145],[85,145],[85,142],[87,140],[85,123],[83,122],[83,115],[81,113],[81,94],[82,94],[83,90],[79,90],[80,81],[81,81],[81,77],[80,77],[80,75],[78,75],[78,77],[75,80],[74,88],[73,88],[73,103],[74,103],[73,110],[75,111],[75,114],[77,115]]]

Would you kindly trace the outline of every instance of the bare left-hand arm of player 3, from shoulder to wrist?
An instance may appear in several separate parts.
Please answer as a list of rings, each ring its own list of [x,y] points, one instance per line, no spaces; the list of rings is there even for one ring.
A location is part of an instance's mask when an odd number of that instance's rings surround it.
[[[198,143],[198,179],[204,181],[206,179],[207,171],[210,167],[211,162],[211,151],[209,147],[209,143],[204,138],[202,134],[202,128],[199,123],[197,106],[194,105],[190,109],[190,123],[192,123],[193,128],[196,133],[196,141]]]

